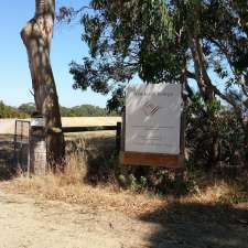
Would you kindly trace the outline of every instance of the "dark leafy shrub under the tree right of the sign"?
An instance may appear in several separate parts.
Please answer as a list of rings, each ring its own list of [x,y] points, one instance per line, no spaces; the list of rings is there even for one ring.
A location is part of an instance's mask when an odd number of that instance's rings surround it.
[[[195,166],[209,170],[219,161],[245,163],[244,127],[219,100],[206,106],[196,94],[187,106],[186,123],[186,150]]]

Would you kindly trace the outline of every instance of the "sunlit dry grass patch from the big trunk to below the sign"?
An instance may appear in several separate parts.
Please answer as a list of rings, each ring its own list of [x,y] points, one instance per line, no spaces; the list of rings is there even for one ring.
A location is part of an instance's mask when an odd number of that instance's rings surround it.
[[[131,215],[149,213],[164,206],[164,200],[149,194],[122,191],[115,185],[87,185],[84,183],[85,173],[78,166],[76,158],[72,158],[64,173],[32,177],[21,174],[11,181],[8,188],[45,200],[86,204],[94,208],[120,211]]]

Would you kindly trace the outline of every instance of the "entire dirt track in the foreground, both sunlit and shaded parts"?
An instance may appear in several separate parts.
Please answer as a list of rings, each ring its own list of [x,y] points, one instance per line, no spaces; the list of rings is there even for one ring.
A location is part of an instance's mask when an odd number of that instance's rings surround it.
[[[245,209],[182,205],[169,207],[169,218],[163,212],[137,218],[101,209],[100,203],[93,208],[28,198],[7,193],[4,185],[0,183],[1,248],[248,248],[247,223],[236,222],[238,212],[247,216]]]

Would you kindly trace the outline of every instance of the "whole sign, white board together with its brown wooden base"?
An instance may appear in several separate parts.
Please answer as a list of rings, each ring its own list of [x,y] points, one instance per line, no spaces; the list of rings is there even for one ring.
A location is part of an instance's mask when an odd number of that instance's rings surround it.
[[[123,164],[182,168],[182,86],[130,85],[126,91]]]

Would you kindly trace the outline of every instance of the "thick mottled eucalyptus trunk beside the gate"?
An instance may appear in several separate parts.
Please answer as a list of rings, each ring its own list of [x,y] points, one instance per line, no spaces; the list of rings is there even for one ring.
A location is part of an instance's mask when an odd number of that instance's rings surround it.
[[[36,110],[45,118],[48,162],[62,164],[64,137],[60,105],[50,62],[55,0],[35,0],[35,15],[22,29],[34,89]]]

